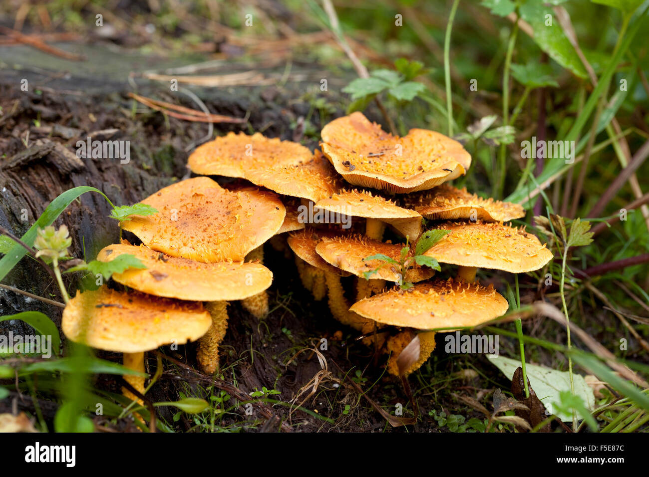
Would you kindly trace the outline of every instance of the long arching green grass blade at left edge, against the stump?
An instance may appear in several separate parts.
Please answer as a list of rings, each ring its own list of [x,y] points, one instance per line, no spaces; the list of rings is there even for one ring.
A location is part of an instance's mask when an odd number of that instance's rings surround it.
[[[21,240],[30,247],[34,245],[38,228],[45,228],[46,226],[51,225],[56,220],[56,217],[66,210],[70,202],[75,201],[77,197],[86,192],[100,193],[111,206],[113,205],[101,190],[90,186],[80,186],[67,190],[50,202],[49,206],[45,208],[43,214],[38,217],[38,220],[36,220],[34,225],[32,225],[29,230],[25,232],[25,235],[21,237]],[[0,260],[0,281],[5,278],[6,274],[16,266],[16,263],[18,263],[25,254],[27,254],[27,251],[17,243],[14,244],[10,251],[6,252],[5,256]]]

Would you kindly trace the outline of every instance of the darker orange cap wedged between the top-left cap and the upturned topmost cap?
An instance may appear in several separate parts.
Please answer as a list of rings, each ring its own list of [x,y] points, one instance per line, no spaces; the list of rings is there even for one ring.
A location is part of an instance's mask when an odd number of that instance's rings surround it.
[[[283,195],[317,202],[341,188],[341,180],[320,151],[304,164],[276,165],[245,172],[245,177],[258,186]]]

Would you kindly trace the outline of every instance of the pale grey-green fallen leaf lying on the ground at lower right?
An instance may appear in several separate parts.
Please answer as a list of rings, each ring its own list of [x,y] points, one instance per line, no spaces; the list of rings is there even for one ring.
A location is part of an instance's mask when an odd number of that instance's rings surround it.
[[[502,373],[511,380],[514,371],[520,367],[520,360],[512,360],[505,356],[496,356],[489,359]],[[537,397],[543,402],[546,408],[551,404],[558,402],[562,391],[570,392],[570,376],[567,371],[556,371],[556,369],[546,368],[528,363],[526,365],[526,374],[530,385]],[[580,374],[572,373],[574,382],[574,392],[576,396],[582,398],[587,409],[593,409],[595,406],[595,397],[593,389],[586,384],[586,380]],[[561,419],[561,421],[572,421],[572,413],[565,413],[558,409],[552,409],[552,412]],[[578,419],[584,419],[585,416],[579,411]]]

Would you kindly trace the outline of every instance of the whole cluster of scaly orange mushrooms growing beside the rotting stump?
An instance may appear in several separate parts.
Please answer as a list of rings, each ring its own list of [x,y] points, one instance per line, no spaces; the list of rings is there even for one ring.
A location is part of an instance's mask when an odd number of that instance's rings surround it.
[[[158,213],[124,224],[141,245],[123,241],[98,257],[133,254],[147,268],[113,275],[127,291],[77,294],[64,311],[66,336],[123,352],[138,371],[147,350],[199,339],[199,366],[214,373],[227,302],[241,300],[257,317],[268,313],[268,241],[292,251],[313,299],[327,297],[332,316],[389,354],[387,370],[403,376],[434,350],[430,330],[476,326],[507,311],[493,286],[476,283],[478,267],[522,273],[552,259],[535,236],[505,224],[523,217],[522,207],[444,184],[471,165],[458,141],[424,129],[392,136],[360,112],[328,123],[321,136],[315,153],[243,133],[198,147],[188,167],[199,176],[147,197],[142,202]],[[221,186],[206,176],[238,180]],[[398,262],[424,223],[448,231],[425,255],[458,265],[455,278],[434,277],[415,261],[404,271],[371,258]],[[414,286],[404,289],[404,280]],[[129,379],[143,392],[143,378]]]

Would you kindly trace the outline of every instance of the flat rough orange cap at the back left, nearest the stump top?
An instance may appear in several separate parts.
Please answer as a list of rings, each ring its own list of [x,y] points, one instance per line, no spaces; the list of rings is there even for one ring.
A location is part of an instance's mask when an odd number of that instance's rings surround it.
[[[245,178],[251,169],[300,164],[311,156],[311,151],[298,143],[266,138],[258,132],[252,136],[228,132],[197,147],[187,165],[196,174]]]

